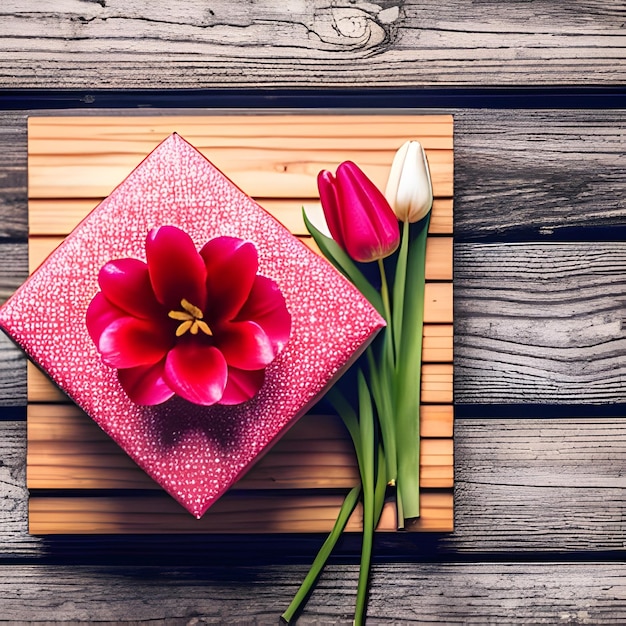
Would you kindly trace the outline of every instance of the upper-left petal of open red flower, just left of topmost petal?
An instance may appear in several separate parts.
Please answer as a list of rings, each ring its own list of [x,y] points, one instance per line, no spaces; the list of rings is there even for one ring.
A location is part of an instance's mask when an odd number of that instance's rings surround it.
[[[109,261],[98,275],[107,300],[133,317],[149,318],[161,308],[150,283],[148,266],[138,259]]]

